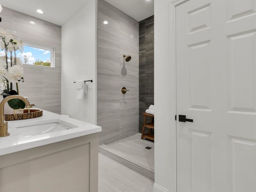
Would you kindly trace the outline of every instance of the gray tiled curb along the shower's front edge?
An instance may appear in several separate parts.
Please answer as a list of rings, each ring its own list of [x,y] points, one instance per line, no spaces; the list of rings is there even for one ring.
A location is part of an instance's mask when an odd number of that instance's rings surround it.
[[[140,175],[147,177],[148,179],[155,181],[155,173],[148,171],[147,169],[144,169],[143,167],[140,167],[139,165],[136,165],[120,156],[115,155],[114,153],[109,152],[108,150],[101,148],[101,146],[104,145],[100,145],[99,146],[99,152],[107,157],[109,157],[110,159],[113,159],[114,161],[124,165],[125,167],[131,169],[132,171],[135,171],[137,173],[139,173]]]

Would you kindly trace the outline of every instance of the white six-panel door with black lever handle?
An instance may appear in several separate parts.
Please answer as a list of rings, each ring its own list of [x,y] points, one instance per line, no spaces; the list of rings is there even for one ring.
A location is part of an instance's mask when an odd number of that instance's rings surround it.
[[[256,1],[177,6],[176,62],[178,192],[255,192]]]

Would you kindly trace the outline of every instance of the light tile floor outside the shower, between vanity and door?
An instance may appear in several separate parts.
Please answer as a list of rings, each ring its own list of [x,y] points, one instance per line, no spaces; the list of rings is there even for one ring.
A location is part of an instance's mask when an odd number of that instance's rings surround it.
[[[99,192],[153,192],[154,182],[99,153]]]

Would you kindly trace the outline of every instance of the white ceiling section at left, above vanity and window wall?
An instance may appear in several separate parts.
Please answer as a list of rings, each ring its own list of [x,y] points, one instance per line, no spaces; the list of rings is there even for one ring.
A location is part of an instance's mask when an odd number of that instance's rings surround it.
[[[0,0],[2,6],[33,17],[62,25],[73,16],[86,1],[84,0]],[[43,14],[37,13],[41,9]]]

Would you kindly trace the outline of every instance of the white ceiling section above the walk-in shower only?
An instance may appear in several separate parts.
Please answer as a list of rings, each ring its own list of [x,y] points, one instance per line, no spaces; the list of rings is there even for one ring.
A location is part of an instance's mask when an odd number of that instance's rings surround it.
[[[105,0],[133,19],[141,21],[154,15],[154,0]]]

